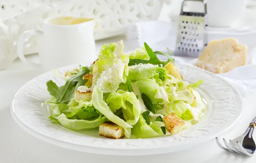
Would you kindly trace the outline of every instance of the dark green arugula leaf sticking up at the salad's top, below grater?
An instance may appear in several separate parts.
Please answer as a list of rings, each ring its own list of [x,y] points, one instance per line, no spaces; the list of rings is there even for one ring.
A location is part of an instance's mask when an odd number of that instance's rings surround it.
[[[136,64],[139,64],[139,63],[143,63],[143,64],[150,63],[150,64],[154,64],[154,65],[158,65],[158,66],[161,66],[161,65],[165,66],[169,62],[174,63],[174,59],[171,57],[171,50],[170,49],[167,48],[169,54],[165,54],[161,51],[155,51],[155,52],[152,51],[152,49],[149,47],[149,45],[146,44],[146,42],[144,42],[144,46],[146,48],[147,53],[149,54],[150,59],[149,60],[130,59],[129,63],[128,63],[128,66],[136,65]],[[158,59],[156,54],[165,55],[168,58],[168,60],[167,61],[161,61],[161,60]]]

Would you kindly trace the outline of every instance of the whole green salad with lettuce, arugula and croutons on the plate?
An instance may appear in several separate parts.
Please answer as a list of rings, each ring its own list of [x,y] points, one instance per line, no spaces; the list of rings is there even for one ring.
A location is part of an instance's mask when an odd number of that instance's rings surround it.
[[[169,54],[152,51],[146,43],[128,53],[123,48],[122,40],[105,44],[90,66],[60,76],[65,85],[46,83],[52,123],[74,131],[114,125],[103,133],[131,139],[175,134],[202,118],[205,103],[195,89],[204,81],[184,82],[169,49]]]

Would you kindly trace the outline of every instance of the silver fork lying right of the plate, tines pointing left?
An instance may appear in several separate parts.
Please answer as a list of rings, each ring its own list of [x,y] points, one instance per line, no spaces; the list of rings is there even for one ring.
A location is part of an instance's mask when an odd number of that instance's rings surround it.
[[[253,121],[251,121],[249,127],[243,135],[238,136],[233,140],[229,140],[229,143],[226,141],[226,139],[223,138],[223,142],[226,148],[219,142],[219,138],[216,137],[217,145],[219,146],[219,148],[222,148],[226,151],[252,156],[256,153],[256,145],[255,141],[253,140],[253,132],[255,127],[256,117],[253,119]]]

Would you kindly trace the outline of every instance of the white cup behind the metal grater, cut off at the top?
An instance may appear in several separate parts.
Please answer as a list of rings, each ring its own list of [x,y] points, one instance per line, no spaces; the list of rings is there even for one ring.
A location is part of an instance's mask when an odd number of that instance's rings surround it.
[[[230,27],[239,21],[246,9],[247,0],[207,0],[208,25]],[[187,3],[189,11],[203,12],[203,3]]]

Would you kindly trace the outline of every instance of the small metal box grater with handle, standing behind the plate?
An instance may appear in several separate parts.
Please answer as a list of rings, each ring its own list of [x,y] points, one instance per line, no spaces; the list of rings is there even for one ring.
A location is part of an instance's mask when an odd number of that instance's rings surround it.
[[[186,1],[198,1],[204,3],[204,12],[184,12]],[[207,6],[204,0],[184,0],[181,5],[179,27],[176,37],[174,55],[186,57],[199,57],[207,46]]]

